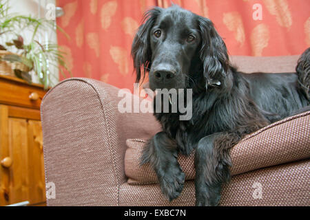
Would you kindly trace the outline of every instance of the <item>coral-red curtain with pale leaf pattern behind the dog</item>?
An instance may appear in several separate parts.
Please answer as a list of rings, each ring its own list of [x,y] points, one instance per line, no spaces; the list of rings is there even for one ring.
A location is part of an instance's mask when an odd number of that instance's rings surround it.
[[[59,0],[65,15],[57,23],[73,76],[102,80],[132,89],[130,49],[143,12],[170,0]],[[310,47],[309,0],[175,0],[174,3],[209,17],[229,54],[286,56]],[[61,76],[62,77],[62,76]]]

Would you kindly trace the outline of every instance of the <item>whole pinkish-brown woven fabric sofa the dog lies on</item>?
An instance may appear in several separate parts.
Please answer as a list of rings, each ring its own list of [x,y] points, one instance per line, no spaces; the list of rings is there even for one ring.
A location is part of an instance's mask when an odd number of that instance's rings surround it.
[[[244,72],[293,72],[298,56],[234,56]],[[167,201],[148,164],[138,165],[147,138],[161,127],[152,113],[120,113],[118,89],[69,78],[41,104],[48,206],[194,206],[193,156],[178,199]],[[247,135],[231,150],[233,177],[220,206],[310,206],[310,111]],[[48,184],[50,186],[50,184]]]

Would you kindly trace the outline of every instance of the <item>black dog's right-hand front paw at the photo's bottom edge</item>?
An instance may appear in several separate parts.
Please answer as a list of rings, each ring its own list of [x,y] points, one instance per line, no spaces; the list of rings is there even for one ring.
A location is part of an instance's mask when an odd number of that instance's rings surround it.
[[[196,206],[218,206],[220,203],[220,186],[202,185],[196,189]]]

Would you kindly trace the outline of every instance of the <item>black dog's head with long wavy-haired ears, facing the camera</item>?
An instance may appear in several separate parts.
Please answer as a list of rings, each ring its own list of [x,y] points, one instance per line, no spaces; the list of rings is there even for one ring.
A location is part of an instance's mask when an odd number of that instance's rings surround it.
[[[225,43],[213,23],[173,5],[145,13],[132,44],[136,82],[151,89],[229,87]]]

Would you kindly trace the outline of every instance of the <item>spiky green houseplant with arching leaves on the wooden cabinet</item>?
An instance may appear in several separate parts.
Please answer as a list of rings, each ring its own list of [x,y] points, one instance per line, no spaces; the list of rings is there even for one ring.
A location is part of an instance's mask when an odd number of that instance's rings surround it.
[[[23,78],[31,83],[30,71],[34,70],[39,82],[44,85],[45,89],[51,86],[51,77],[49,74],[50,67],[59,67],[59,71],[65,77],[63,69],[70,73],[64,60],[64,52],[59,50],[59,46],[54,43],[41,44],[36,40],[40,31],[43,30],[60,30],[53,21],[47,19],[36,19],[31,16],[23,16],[9,12],[8,1],[0,0],[0,36],[11,37],[5,44],[0,44],[0,50],[17,51],[17,54],[6,54],[1,56],[1,60],[11,63],[23,63],[29,71],[14,69],[14,74],[18,78]],[[30,42],[25,44],[23,36],[20,33],[23,30],[32,31]],[[67,34],[65,36],[68,37]],[[71,73],[70,73],[71,74]]]

